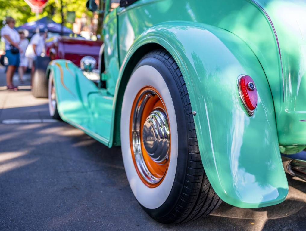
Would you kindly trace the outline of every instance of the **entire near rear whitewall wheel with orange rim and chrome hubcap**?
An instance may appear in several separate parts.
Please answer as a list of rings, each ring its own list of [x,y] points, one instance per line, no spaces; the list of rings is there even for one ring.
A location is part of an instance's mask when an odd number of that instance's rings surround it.
[[[152,218],[187,222],[218,207],[221,199],[201,162],[188,91],[167,51],[151,51],[134,68],[120,130],[129,185]]]

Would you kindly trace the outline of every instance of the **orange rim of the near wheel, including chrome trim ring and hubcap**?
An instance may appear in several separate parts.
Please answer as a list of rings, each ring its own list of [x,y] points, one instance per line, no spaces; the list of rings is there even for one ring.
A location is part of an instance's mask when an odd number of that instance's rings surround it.
[[[165,178],[170,160],[170,125],[167,109],[152,86],[141,89],[133,102],[130,117],[130,147],[134,167],[150,188]]]

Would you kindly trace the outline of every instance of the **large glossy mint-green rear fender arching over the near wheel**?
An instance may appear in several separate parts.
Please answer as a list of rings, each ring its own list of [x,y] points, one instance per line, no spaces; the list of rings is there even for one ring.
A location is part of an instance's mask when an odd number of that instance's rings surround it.
[[[121,65],[113,105],[116,117],[129,78],[125,70],[132,60],[139,60],[135,57],[138,51],[150,44],[168,50],[182,72],[196,112],[203,167],[218,196],[244,208],[285,200],[288,183],[278,146],[271,90],[255,54],[229,31],[183,21],[159,24],[145,31],[136,38]],[[253,78],[258,92],[252,117],[246,113],[237,90],[237,79],[242,74]],[[118,123],[113,126],[116,136]]]

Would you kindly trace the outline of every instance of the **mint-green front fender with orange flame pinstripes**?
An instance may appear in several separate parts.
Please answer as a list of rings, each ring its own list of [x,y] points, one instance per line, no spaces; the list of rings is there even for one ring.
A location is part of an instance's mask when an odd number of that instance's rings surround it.
[[[49,78],[51,71],[56,88],[58,112],[61,118],[94,136],[90,129],[85,129],[85,127],[91,125],[88,94],[97,91],[95,84],[87,79],[82,71],[69,60],[51,61],[46,71],[47,78]],[[83,86],[83,88],[81,89],[80,86]],[[95,138],[106,144],[104,139]]]

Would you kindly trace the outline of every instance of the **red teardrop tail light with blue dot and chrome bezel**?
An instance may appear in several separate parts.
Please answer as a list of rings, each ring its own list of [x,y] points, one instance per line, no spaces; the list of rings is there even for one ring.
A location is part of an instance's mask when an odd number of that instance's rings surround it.
[[[252,116],[257,106],[257,90],[253,79],[248,75],[239,76],[238,91],[244,108]]]

